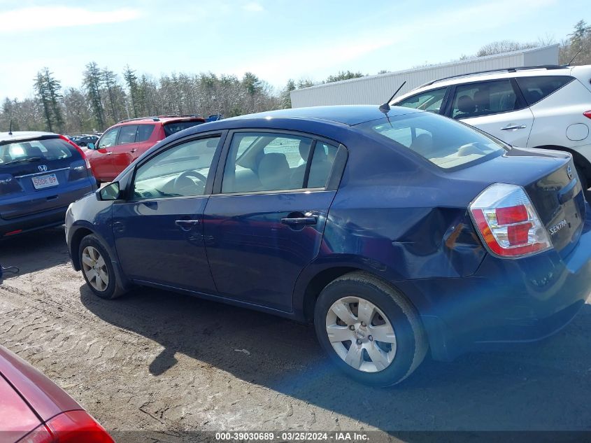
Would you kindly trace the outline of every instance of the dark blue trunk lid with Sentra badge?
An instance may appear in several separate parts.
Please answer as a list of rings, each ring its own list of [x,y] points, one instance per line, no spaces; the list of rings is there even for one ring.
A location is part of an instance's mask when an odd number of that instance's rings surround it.
[[[569,153],[511,148],[506,154],[453,173],[483,183],[521,185],[562,257],[576,246],[585,220],[585,197]]]

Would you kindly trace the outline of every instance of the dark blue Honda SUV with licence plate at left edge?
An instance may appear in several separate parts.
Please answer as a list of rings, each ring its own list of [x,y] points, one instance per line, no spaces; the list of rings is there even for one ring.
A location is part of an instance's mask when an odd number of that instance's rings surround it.
[[[50,132],[0,132],[0,239],[62,225],[68,205],[97,189],[83,151]]]

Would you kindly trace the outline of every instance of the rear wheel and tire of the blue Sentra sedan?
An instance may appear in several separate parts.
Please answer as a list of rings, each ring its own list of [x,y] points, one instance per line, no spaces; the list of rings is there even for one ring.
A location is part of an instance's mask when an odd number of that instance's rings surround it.
[[[359,300],[357,312],[355,299]],[[359,311],[360,307],[365,315]],[[368,317],[369,308],[373,309],[373,314]],[[340,318],[336,311],[349,318]],[[361,323],[362,318],[370,318],[370,323]],[[355,330],[351,329],[352,324]],[[390,330],[388,325],[392,332],[384,335]],[[315,304],[314,326],[320,345],[336,366],[353,379],[371,386],[400,383],[422,363],[427,353],[427,336],[411,302],[389,284],[365,272],[345,274],[322,290]],[[341,341],[349,337],[349,331],[351,339]],[[385,341],[373,338],[373,333]],[[352,349],[353,346],[357,347]],[[350,354],[353,365],[346,361]]]

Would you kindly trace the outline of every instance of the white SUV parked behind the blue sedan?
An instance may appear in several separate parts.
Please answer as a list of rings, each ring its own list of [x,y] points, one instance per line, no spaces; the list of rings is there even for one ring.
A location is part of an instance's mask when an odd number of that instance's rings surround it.
[[[478,127],[512,146],[565,150],[591,183],[591,65],[532,66],[434,80],[390,104]]]

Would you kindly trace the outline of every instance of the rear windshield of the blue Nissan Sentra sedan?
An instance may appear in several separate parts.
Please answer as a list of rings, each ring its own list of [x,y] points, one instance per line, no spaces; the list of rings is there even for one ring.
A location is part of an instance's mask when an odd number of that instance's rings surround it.
[[[460,122],[433,113],[413,113],[364,123],[370,131],[394,141],[443,169],[464,167],[497,157],[506,145]]]

